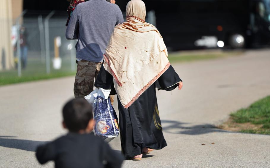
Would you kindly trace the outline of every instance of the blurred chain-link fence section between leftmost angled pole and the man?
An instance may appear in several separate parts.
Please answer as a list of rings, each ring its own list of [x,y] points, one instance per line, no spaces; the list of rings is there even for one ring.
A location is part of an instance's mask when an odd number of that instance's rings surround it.
[[[43,20],[42,17],[24,19],[28,66],[32,60],[42,64],[47,73],[56,70],[74,71],[76,41],[65,38],[66,20],[50,19],[47,24]]]

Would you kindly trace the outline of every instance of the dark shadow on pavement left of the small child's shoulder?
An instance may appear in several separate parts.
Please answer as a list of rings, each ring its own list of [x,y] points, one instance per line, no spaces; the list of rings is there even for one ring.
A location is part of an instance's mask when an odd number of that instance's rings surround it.
[[[5,137],[5,138],[2,138]],[[10,137],[13,138],[13,137]],[[9,136],[0,136],[0,146],[6,148],[15,148],[25,151],[36,151],[36,147],[47,143],[46,141],[34,141],[34,140],[23,140],[23,139],[9,139]]]

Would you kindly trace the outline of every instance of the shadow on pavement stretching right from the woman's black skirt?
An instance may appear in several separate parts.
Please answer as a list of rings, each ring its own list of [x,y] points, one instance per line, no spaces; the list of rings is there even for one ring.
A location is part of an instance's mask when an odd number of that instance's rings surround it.
[[[172,134],[200,135],[213,132],[232,133],[230,131],[218,129],[214,125],[210,124],[195,125],[193,127],[184,127],[182,125],[187,123],[171,120],[162,120],[161,123],[165,125],[163,126],[163,131]]]

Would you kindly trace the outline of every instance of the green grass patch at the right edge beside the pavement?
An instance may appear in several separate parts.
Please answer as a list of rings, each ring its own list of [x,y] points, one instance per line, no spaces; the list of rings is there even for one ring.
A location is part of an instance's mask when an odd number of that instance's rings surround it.
[[[240,109],[231,114],[231,118],[236,123],[251,123],[262,125],[255,130],[241,130],[244,133],[259,133],[270,135],[270,96],[253,103],[246,109]]]

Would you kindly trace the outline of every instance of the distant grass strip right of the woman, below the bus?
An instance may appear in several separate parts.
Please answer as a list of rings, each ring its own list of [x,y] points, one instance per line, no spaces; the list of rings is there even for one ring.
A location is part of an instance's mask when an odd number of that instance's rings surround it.
[[[209,54],[187,54],[187,53],[172,53],[169,54],[168,59],[170,62],[191,62],[191,61],[199,61],[199,60],[207,60],[207,59],[217,59],[224,58],[231,55],[239,55],[242,52],[230,51],[230,52],[217,52],[217,53],[209,53]]]

